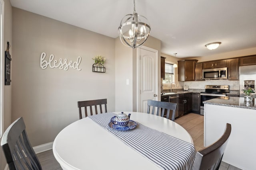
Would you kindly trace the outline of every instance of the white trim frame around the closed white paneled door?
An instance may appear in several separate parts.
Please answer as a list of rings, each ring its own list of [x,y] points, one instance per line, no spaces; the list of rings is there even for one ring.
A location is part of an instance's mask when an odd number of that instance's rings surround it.
[[[156,49],[152,49],[150,47],[146,47],[146,46],[141,46],[139,48],[137,48],[137,112],[140,111],[140,49],[144,49],[144,50],[148,50],[148,51],[152,51],[154,53],[156,53],[156,98],[158,98],[158,50]]]

